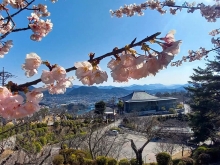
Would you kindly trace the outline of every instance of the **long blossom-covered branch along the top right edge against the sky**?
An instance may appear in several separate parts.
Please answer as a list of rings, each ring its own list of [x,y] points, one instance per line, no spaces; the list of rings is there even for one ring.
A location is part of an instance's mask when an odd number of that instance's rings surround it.
[[[141,3],[140,5],[131,4],[131,5],[124,5],[124,7],[120,7],[118,10],[110,10],[112,16],[116,16],[118,18],[123,17],[126,15],[128,17],[134,16],[135,14],[142,16],[144,15],[143,10],[150,8],[152,10],[157,10],[161,14],[165,14],[167,11],[163,8],[167,6],[170,8],[170,14],[175,15],[177,10],[182,10],[183,8],[187,8],[188,13],[193,13],[195,10],[200,10],[201,15],[205,17],[208,22],[215,22],[217,18],[220,17],[220,3],[216,1],[214,5],[205,5],[203,3],[198,4],[196,3],[188,3],[185,2],[182,6],[176,6],[174,0],[166,0],[160,2],[159,0],[148,0],[145,3]]]

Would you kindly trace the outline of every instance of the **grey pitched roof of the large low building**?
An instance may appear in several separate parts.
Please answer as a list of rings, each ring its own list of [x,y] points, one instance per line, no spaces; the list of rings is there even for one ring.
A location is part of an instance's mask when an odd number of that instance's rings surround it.
[[[145,91],[135,91],[127,96],[119,98],[125,102],[145,102],[145,101],[162,101],[162,100],[176,100],[173,97],[156,97],[148,94]]]

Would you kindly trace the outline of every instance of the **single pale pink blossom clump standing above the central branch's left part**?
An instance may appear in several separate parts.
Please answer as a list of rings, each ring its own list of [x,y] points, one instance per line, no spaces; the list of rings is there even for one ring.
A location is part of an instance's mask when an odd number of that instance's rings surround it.
[[[31,77],[36,74],[41,62],[41,58],[36,53],[27,54],[25,63],[22,65],[25,75]]]

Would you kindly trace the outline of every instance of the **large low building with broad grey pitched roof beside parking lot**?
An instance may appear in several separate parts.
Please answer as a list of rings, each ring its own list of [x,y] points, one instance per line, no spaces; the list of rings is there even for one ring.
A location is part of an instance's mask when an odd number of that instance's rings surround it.
[[[145,91],[135,91],[127,96],[119,98],[124,103],[124,112],[156,112],[169,110],[176,107],[177,98],[156,97]],[[163,108],[162,108],[163,107]]]

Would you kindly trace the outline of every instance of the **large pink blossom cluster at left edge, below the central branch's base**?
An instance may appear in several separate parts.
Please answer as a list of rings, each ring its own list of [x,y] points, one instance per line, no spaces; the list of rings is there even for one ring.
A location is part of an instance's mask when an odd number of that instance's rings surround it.
[[[0,115],[5,119],[18,119],[32,115],[40,110],[39,102],[43,98],[43,88],[36,88],[26,93],[26,100],[0,86]]]

